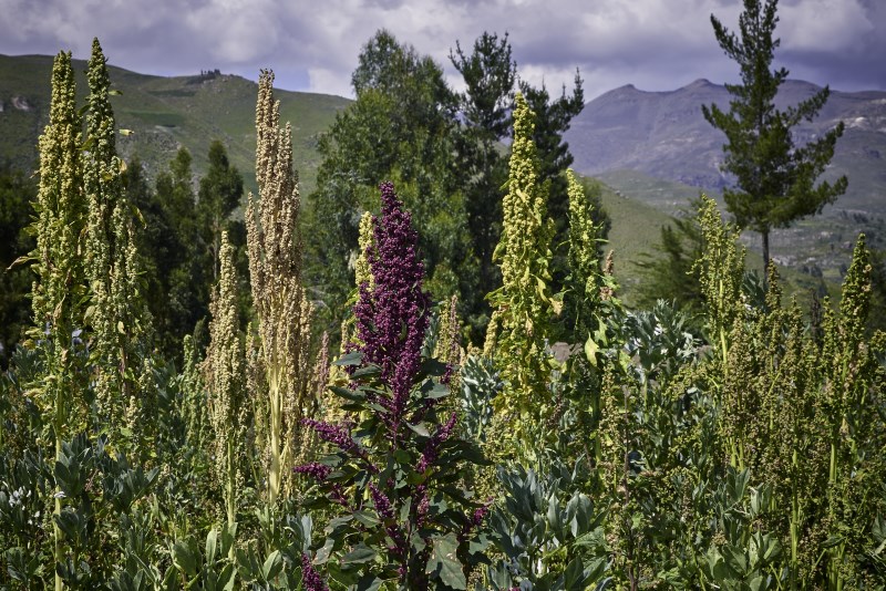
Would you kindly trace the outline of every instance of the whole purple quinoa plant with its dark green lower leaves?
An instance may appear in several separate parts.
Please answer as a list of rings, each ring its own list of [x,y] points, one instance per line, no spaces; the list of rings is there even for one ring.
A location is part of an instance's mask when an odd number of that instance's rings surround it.
[[[336,363],[351,376],[346,422],[306,421],[330,453],[296,468],[318,484],[309,507],[332,515],[313,564],[346,587],[465,589],[484,561],[486,506],[463,487],[465,470],[483,463],[456,434],[446,364],[423,356],[431,300],[411,216],[381,185],[381,215],[365,256],[373,281],[359,286],[357,343]],[[451,369],[450,369],[451,371]]]

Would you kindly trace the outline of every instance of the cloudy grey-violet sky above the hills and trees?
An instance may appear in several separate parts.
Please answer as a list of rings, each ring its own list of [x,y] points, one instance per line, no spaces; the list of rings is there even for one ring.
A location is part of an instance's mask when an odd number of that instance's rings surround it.
[[[0,53],[89,58],[99,37],[109,62],[145,74],[218,69],[276,85],[352,96],[361,46],[388,29],[443,66],[484,31],[513,48],[518,75],[585,98],[633,84],[674,90],[704,77],[736,82],[738,65],[717,44],[713,13],[738,29],[740,0],[0,0]],[[833,90],[886,90],[886,1],[782,0],[775,66]]]

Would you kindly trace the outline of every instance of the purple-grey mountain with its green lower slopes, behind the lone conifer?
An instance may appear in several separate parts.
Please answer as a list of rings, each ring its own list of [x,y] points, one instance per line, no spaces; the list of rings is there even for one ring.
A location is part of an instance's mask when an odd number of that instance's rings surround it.
[[[784,108],[818,90],[789,80],[775,102]],[[725,136],[704,121],[701,105],[728,108],[729,100],[724,86],[707,80],[670,92],[615,89],[587,103],[573,120],[566,134],[573,166],[667,214],[686,208],[702,190],[720,199],[729,183],[719,169]],[[823,178],[845,174],[847,193],[823,215],[770,237],[777,263],[831,286],[845,273],[858,232],[867,235],[870,246],[886,248],[886,92],[832,91],[818,117],[797,127],[796,141],[815,138],[839,121],[846,131]],[[759,235],[745,232],[742,240],[760,249]]]

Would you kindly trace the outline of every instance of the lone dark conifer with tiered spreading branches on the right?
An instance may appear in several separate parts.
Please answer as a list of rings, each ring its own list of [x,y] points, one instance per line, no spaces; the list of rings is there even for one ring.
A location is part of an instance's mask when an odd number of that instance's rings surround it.
[[[732,94],[728,112],[717,105],[702,106],[708,122],[727,135],[724,172],[735,176],[736,188],[723,191],[727,208],[742,228],[763,238],[763,263],[769,266],[769,235],[794,220],[821,214],[822,208],[846,191],[846,177],[831,184],[815,179],[834,156],[843,123],[814,142],[797,147],[791,131],[803,120],[812,121],[831,93],[825,86],[796,106],[775,108],[779,86],[787,70],[770,70],[780,44],[772,34],[779,18],[777,0],[744,0],[740,33],[730,32],[711,15],[717,41],[741,70],[741,84],[727,84]]]

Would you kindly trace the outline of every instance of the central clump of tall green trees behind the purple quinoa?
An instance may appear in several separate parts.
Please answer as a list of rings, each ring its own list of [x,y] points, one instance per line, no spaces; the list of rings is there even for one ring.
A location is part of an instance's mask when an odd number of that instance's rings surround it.
[[[309,198],[315,240],[307,252],[308,278],[323,302],[327,328],[337,331],[358,257],[358,224],[378,209],[375,187],[396,183],[414,211],[419,241],[434,299],[459,296],[460,312],[480,339],[490,320],[483,296],[498,287],[493,250],[499,239],[499,187],[506,157],[499,144],[512,126],[516,64],[507,35],[484,33],[466,55],[451,59],[467,86],[456,94],[442,68],[388,31],[363,46],[351,82],[357,101],[336,117],[319,144],[322,163]],[[536,110],[534,141],[542,180],[557,206],[557,237],[566,231],[566,184],[571,162],[563,133],[584,105],[580,79],[571,97],[550,101],[547,91],[522,85]],[[557,242],[559,243],[559,242]],[[559,261],[559,259],[558,259]],[[559,279],[559,278],[558,278]]]

